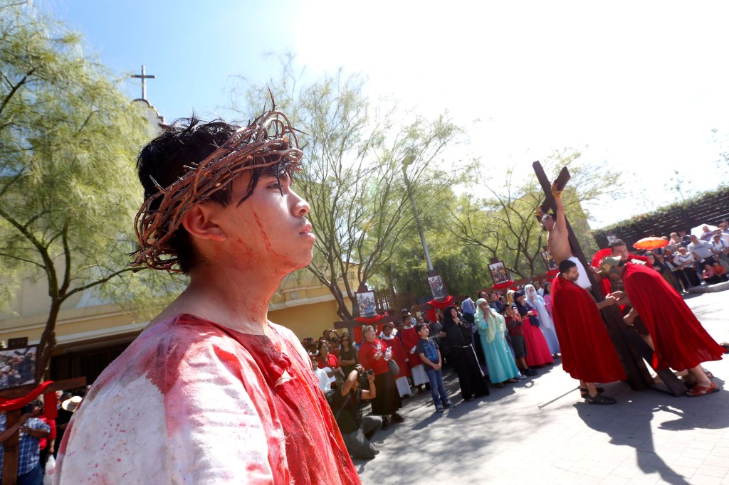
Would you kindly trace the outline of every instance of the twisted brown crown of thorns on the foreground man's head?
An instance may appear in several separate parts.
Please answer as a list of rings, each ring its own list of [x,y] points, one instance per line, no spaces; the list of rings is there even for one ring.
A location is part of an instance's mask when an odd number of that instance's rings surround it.
[[[152,182],[157,193],[147,197],[134,220],[139,249],[132,267],[179,272],[176,253],[168,245],[182,218],[193,205],[225,189],[246,170],[272,167],[285,162],[300,170],[303,152],[288,117],[273,106],[247,127],[240,128],[202,162],[185,165],[187,172],[167,187]],[[299,132],[301,133],[301,132]],[[157,199],[162,198],[155,207]]]

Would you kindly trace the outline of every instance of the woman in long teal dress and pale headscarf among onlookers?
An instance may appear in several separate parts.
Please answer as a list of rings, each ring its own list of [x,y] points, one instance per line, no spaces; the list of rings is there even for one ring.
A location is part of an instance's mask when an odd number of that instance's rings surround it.
[[[504,382],[517,382],[519,369],[506,342],[504,317],[489,307],[486,299],[478,299],[476,307],[476,328],[486,356],[488,379],[496,387],[504,387]]]

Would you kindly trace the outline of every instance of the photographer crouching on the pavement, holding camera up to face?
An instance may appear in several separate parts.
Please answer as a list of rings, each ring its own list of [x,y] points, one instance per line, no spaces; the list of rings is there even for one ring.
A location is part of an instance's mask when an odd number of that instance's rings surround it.
[[[361,389],[369,381],[370,389]],[[375,398],[375,374],[356,366],[346,381],[335,390],[332,397],[332,412],[344,438],[347,451],[354,458],[374,458],[378,449],[370,442],[375,431],[382,425],[379,416],[362,416],[361,401]]]

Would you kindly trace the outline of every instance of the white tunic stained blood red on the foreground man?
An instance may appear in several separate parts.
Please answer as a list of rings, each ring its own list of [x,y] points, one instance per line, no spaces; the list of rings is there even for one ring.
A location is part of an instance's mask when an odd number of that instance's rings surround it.
[[[147,327],[74,412],[55,483],[359,484],[308,355],[266,332],[193,315]]]

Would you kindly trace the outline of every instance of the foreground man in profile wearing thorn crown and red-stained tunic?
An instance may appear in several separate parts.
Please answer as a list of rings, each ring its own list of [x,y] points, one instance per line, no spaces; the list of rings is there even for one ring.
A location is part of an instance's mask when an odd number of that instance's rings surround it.
[[[359,484],[308,355],[267,317],[315,240],[296,135],[274,107],[178,120],[141,150],[132,264],[190,285],[96,379],[55,483]]]

